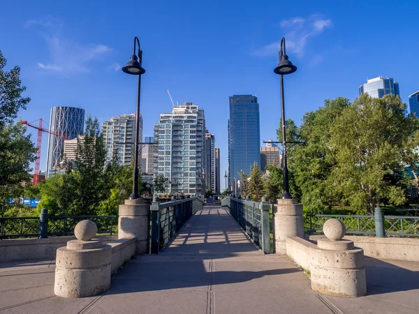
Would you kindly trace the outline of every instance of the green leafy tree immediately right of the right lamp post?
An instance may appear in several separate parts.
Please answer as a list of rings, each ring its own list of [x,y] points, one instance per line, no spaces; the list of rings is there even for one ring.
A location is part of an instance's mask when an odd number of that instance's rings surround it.
[[[311,214],[331,211],[332,204],[340,202],[332,177],[337,160],[330,142],[335,120],[350,104],[346,98],[326,99],[323,107],[302,119],[299,138],[305,144],[293,147],[291,172],[301,190],[304,211]]]

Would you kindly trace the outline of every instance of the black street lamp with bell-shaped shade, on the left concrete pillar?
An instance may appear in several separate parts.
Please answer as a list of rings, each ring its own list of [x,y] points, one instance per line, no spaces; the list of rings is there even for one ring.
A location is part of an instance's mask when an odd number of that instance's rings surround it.
[[[138,45],[138,56],[135,54],[135,47]],[[145,73],[142,68],[142,50],[140,49],[140,40],[137,36],[134,38],[134,52],[131,60],[126,63],[122,70],[131,75],[138,75],[138,89],[137,89],[137,112],[135,119],[135,156],[134,156],[134,172],[133,172],[133,193],[129,195],[130,200],[140,198],[138,194],[138,134],[140,133],[140,96],[141,96],[141,75]]]

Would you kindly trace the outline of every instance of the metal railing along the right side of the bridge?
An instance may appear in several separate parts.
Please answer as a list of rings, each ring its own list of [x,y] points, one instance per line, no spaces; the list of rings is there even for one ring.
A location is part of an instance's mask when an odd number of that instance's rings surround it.
[[[270,204],[263,202],[253,202],[225,197],[221,200],[221,207],[230,213],[246,234],[259,246],[263,252],[270,253]]]

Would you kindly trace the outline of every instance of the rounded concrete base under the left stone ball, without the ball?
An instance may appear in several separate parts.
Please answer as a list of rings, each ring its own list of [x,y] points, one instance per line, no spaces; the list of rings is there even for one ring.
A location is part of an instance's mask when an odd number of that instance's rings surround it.
[[[54,294],[64,298],[92,297],[110,288],[112,248],[100,241],[69,241],[57,250]],[[71,249],[82,247],[87,249]],[[97,247],[98,246],[98,247]]]

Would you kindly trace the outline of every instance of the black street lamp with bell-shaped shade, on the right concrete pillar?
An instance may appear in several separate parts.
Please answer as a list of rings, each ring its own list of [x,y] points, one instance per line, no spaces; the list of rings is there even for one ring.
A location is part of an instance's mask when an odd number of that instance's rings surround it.
[[[290,193],[290,183],[288,179],[288,167],[286,164],[286,127],[285,127],[285,108],[284,108],[284,75],[294,73],[297,70],[297,67],[293,65],[291,61],[288,60],[285,50],[285,38],[281,39],[281,49],[279,50],[279,63],[276,68],[274,68],[274,73],[281,75],[281,120],[282,120],[282,160],[283,168],[282,172],[284,174],[284,193],[282,198],[293,198]]]

